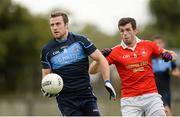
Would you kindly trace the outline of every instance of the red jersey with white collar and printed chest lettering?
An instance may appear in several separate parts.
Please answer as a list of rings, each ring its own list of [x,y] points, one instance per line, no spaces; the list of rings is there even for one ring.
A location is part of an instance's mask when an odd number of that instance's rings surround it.
[[[117,45],[106,59],[114,64],[121,78],[121,96],[132,97],[157,92],[152,70],[152,57],[163,48],[148,40],[139,40],[134,48]]]

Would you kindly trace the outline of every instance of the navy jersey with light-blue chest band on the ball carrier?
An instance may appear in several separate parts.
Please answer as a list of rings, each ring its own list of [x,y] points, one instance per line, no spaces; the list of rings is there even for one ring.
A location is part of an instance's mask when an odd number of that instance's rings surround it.
[[[51,39],[42,49],[43,69],[52,69],[64,81],[61,94],[80,93],[90,87],[88,56],[96,47],[85,36],[69,32],[67,39]]]

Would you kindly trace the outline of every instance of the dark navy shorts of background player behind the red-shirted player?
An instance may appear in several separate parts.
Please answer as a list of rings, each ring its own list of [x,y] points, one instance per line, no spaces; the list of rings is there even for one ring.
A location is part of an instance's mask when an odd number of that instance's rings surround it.
[[[159,94],[162,96],[162,101],[164,103],[164,106],[169,106],[171,107],[171,94],[169,91],[163,91],[159,92]]]

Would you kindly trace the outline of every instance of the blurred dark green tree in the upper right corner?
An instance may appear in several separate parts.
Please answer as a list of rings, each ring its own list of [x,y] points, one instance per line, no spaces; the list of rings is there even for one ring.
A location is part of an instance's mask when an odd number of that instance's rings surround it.
[[[150,0],[153,21],[145,26],[142,37],[162,36],[168,47],[180,47],[180,0]]]

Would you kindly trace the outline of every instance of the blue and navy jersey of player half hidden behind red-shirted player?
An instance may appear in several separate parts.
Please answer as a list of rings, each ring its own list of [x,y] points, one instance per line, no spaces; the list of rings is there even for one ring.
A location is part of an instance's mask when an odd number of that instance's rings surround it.
[[[152,66],[158,91],[170,91],[170,71],[177,67],[175,62],[164,62],[162,59],[153,58]]]

